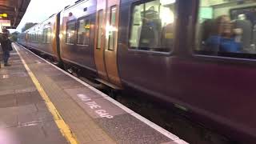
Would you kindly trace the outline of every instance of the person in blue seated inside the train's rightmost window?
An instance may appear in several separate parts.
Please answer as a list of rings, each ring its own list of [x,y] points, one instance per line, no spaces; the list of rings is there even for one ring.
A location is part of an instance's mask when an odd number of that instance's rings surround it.
[[[215,52],[233,52],[241,50],[241,42],[235,41],[235,34],[241,34],[242,30],[233,29],[230,18],[227,15],[215,19],[213,34],[206,40],[206,46]]]

